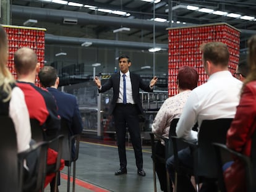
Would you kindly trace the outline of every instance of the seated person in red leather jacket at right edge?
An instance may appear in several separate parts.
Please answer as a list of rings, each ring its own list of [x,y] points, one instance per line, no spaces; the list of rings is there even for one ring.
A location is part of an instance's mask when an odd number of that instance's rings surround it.
[[[250,156],[252,135],[256,130],[256,35],[248,41],[249,74],[244,80],[241,100],[237,106],[236,115],[227,133],[227,146],[245,156]],[[255,150],[255,149],[254,149]],[[224,172],[228,192],[247,191],[245,186],[245,169],[239,159]]]

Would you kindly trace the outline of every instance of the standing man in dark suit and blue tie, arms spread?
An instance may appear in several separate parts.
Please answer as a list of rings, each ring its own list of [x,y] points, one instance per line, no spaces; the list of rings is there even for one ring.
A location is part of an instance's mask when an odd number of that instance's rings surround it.
[[[153,92],[153,86],[157,81],[157,77],[153,77],[148,85],[142,81],[139,75],[129,71],[131,64],[128,56],[120,56],[120,72],[112,75],[104,85],[101,85],[100,79],[95,77],[95,84],[98,86],[99,93],[104,93],[113,88],[113,99],[109,112],[114,116],[120,161],[120,168],[115,172],[115,175],[127,173],[126,125],[128,125],[132,146],[134,147],[137,173],[140,176],[145,176],[139,127],[139,114],[143,114],[143,109],[139,89],[141,88],[143,91]]]

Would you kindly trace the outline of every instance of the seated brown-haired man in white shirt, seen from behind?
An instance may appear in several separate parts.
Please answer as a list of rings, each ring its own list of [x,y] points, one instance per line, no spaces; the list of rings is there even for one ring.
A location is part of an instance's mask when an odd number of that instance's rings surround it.
[[[228,71],[229,52],[224,43],[210,42],[201,47],[202,62],[205,72],[209,75],[207,83],[191,91],[183,108],[176,134],[179,138],[197,141],[197,132],[192,130],[198,122],[198,128],[205,119],[234,118],[242,82]],[[200,130],[199,130],[200,131]],[[189,148],[178,152],[179,163],[193,169],[193,157]],[[169,175],[174,183],[174,157],[166,162]],[[177,175],[178,191],[195,191],[190,182],[190,175]],[[203,183],[200,191],[218,191],[215,182]]]

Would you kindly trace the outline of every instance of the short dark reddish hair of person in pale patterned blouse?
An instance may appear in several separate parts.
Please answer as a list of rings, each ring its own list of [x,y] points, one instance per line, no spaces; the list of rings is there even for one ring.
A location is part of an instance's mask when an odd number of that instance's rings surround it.
[[[198,77],[199,75],[194,67],[187,65],[180,67],[177,74],[179,88],[182,90],[193,90],[197,87]]]

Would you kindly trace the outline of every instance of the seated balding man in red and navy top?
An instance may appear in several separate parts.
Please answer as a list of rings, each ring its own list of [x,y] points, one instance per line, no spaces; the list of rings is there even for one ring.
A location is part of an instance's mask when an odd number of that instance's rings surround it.
[[[18,49],[14,54],[14,67],[18,77],[17,85],[25,95],[30,119],[36,119],[40,122],[40,125],[45,129],[47,140],[56,138],[60,128],[57,106],[51,93],[34,84],[36,72],[40,67],[35,52],[30,48]],[[54,164],[57,155],[56,151],[48,149],[47,164]],[[61,169],[63,167],[64,161],[61,163]],[[45,186],[51,182],[55,175],[48,170]]]

